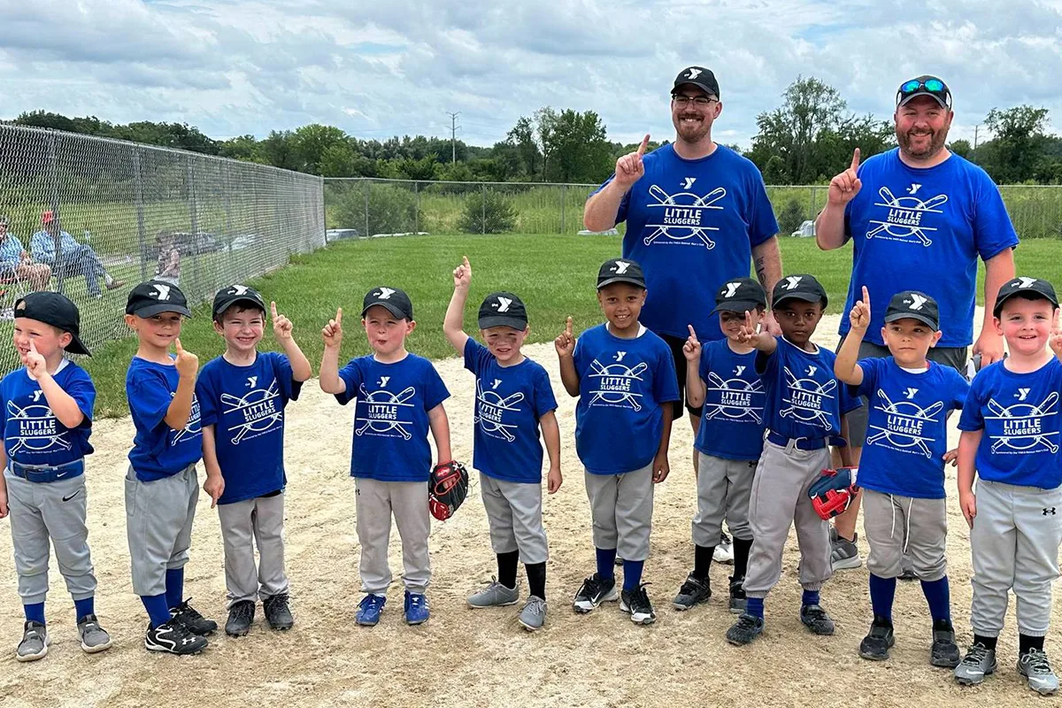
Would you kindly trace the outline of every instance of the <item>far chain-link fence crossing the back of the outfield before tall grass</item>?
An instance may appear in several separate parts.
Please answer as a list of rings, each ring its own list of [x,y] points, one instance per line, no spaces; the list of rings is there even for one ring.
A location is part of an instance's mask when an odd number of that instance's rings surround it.
[[[325,213],[337,238],[396,234],[576,234],[597,185],[325,179]],[[1062,186],[1004,186],[1023,239],[1062,238]],[[825,185],[768,186],[782,235],[812,236]],[[622,231],[623,226],[619,226]]]

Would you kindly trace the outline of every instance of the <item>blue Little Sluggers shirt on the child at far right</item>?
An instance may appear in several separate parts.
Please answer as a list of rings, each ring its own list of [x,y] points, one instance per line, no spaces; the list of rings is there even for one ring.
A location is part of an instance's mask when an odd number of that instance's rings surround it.
[[[975,465],[981,479],[1054,489],[1062,484],[1059,393],[1062,363],[1015,374],[1004,361],[986,366],[970,384],[959,430],[983,430]]]

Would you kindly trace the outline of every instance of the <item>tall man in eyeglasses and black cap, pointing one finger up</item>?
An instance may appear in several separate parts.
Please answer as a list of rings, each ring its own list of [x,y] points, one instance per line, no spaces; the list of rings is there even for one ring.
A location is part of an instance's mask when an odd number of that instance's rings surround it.
[[[712,316],[716,293],[726,280],[748,277],[750,261],[768,293],[782,277],[778,225],[759,170],[712,140],[722,109],[715,75],[703,67],[683,69],[671,89],[674,142],[646,155],[647,135],[636,152],[616,160],[616,172],[586,201],[583,217],[594,231],[627,222],[623,257],[640,263],[646,275],[641,323],[671,347],[683,398],[688,326],[702,342],[722,338]],[[777,331],[770,309],[766,324]],[[675,419],[682,408],[680,400]],[[686,408],[696,432],[701,409]]]

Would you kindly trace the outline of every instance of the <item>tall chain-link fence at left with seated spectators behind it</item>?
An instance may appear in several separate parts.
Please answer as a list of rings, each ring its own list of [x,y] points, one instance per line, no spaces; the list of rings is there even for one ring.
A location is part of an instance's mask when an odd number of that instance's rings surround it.
[[[0,124],[0,341],[35,290],[65,294],[95,348],[124,336],[152,277],[192,304],[325,243],[320,177],[198,153]],[[0,347],[0,370],[18,365]]]

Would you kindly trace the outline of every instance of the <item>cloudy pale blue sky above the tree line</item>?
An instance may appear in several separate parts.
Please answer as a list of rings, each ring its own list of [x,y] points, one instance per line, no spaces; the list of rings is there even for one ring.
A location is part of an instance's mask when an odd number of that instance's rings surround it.
[[[610,138],[672,133],[698,64],[720,82],[715,137],[748,146],[798,74],[887,118],[936,73],[953,137],[993,106],[1062,126],[1062,0],[0,0],[0,118],[44,108],[178,121],[217,138],[310,122],[359,138],[503,139],[520,115],[593,109]],[[1062,129],[1062,128],[1059,128]],[[983,137],[983,128],[980,133]]]

